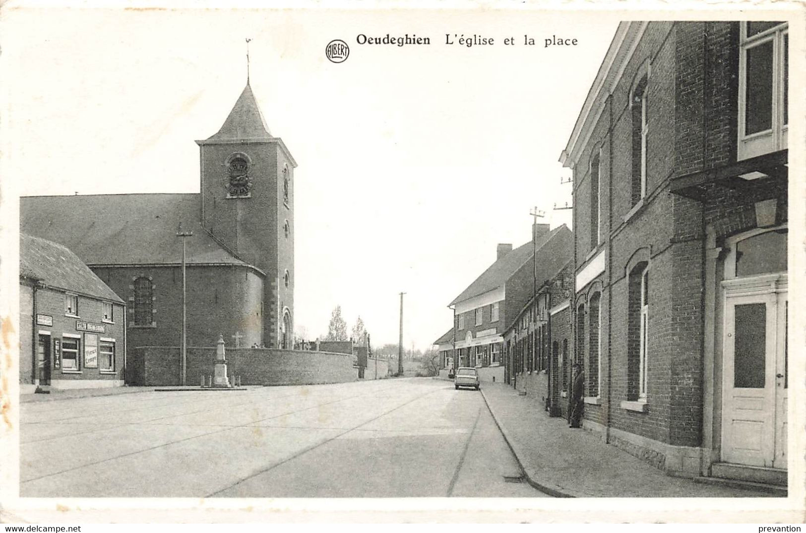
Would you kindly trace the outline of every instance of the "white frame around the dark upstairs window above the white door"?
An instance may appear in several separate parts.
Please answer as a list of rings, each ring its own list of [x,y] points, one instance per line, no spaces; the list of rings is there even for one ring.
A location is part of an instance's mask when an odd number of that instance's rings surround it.
[[[740,23],[739,30],[739,91],[738,91],[738,139],[737,160],[750,159],[787,147],[789,125],[783,116],[783,41],[789,33],[787,23],[779,24],[752,37],[747,36],[747,23]],[[769,130],[745,134],[747,110],[747,51],[764,43],[772,44],[772,121]]]

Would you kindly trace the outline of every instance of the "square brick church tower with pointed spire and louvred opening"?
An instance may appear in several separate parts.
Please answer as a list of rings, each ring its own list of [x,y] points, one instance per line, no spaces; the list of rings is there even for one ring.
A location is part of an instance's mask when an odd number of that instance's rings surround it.
[[[293,170],[272,137],[249,81],[221,129],[196,141],[201,156],[202,226],[235,257],[266,275],[264,345],[293,347]]]

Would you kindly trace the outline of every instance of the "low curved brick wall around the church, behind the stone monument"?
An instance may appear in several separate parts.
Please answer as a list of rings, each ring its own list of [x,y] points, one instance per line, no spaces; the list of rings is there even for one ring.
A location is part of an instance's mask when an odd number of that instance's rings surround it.
[[[187,349],[187,384],[201,383],[214,371],[215,349]],[[127,384],[172,386],[180,384],[181,349],[177,346],[141,346],[129,349]],[[235,348],[226,350],[226,370],[242,385],[308,385],[358,379],[353,357],[346,353],[290,349]],[[374,377],[374,369],[373,369]],[[380,362],[379,362],[380,377]]]

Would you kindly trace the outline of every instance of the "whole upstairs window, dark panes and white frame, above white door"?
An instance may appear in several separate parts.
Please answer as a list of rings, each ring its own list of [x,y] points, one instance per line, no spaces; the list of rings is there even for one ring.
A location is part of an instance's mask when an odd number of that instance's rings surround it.
[[[740,160],[787,147],[788,29],[786,23],[741,23],[738,92]]]

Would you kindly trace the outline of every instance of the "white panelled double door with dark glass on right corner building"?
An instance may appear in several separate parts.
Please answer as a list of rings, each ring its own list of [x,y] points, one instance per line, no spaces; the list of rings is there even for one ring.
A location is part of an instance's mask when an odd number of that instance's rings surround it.
[[[786,292],[725,299],[722,460],[786,468]]]

